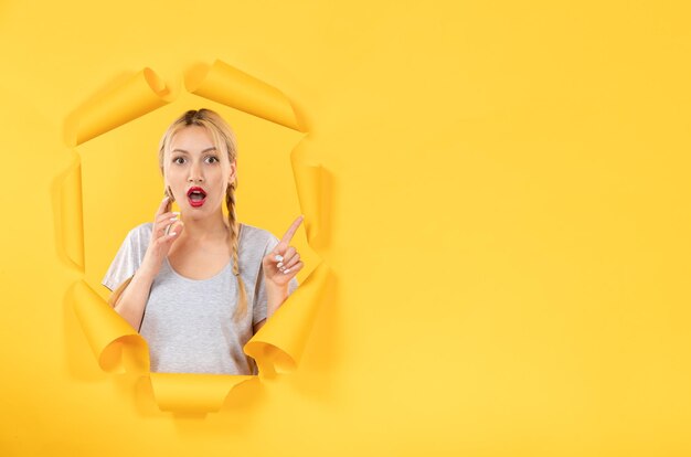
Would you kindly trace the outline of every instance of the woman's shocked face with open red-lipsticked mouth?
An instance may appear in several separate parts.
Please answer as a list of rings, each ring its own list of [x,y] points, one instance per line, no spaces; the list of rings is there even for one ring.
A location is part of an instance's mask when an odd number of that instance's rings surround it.
[[[204,127],[178,131],[163,156],[163,178],[180,206],[194,219],[220,211],[225,190],[235,179],[235,162],[225,150],[216,150]]]

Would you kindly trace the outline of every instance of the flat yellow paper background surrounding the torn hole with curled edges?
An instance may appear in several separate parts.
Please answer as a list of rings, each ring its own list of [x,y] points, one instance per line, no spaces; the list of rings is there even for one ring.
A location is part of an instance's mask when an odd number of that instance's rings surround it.
[[[689,19],[680,1],[4,2],[1,454],[691,454]],[[143,67],[176,95],[216,59],[306,116],[336,281],[295,372],[172,415],[98,369],[73,312],[64,126]]]

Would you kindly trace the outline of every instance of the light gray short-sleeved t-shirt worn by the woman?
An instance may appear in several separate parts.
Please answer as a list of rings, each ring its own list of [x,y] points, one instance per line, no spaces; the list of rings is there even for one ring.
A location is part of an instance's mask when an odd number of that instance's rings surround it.
[[[102,284],[115,290],[143,261],[153,224],[132,228],[123,242]],[[209,279],[179,275],[168,258],[153,279],[139,333],[149,344],[151,371],[164,373],[256,374],[243,347],[253,326],[266,319],[262,258],[278,244],[272,233],[241,224],[240,275],[247,293],[247,312],[235,321],[237,281],[232,259]],[[288,291],[297,288],[294,278]]]

